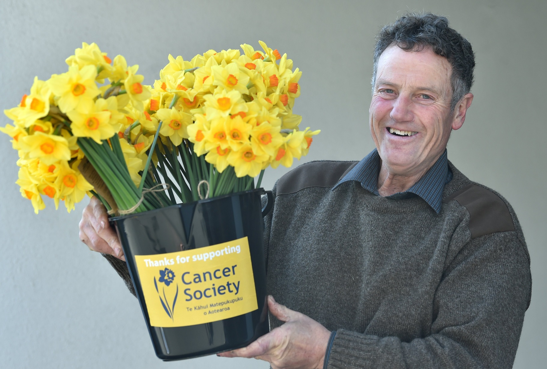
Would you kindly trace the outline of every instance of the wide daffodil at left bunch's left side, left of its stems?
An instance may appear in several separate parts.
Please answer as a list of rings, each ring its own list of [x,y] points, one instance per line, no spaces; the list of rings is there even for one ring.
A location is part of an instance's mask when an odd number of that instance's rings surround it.
[[[39,157],[45,164],[53,164],[59,160],[70,160],[71,153],[68,141],[64,137],[53,134],[35,132],[20,139],[21,150],[28,158]]]

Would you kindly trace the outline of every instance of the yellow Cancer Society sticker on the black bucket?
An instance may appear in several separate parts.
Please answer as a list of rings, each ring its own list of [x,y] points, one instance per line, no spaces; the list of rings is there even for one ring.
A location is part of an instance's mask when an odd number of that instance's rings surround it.
[[[193,250],[135,255],[154,327],[182,327],[258,309],[247,237]]]

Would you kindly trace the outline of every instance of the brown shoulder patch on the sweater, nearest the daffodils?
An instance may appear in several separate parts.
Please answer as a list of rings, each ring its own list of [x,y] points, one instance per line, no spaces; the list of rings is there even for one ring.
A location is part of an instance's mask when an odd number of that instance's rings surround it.
[[[294,194],[308,187],[333,187],[357,161],[312,161],[294,168],[277,181],[276,195]]]

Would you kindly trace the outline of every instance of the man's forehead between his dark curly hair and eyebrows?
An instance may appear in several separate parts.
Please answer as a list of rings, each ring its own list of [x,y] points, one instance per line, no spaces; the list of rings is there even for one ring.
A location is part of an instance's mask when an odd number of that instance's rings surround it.
[[[378,60],[376,85],[411,84],[426,89],[450,89],[452,67],[445,57],[437,55],[431,48],[420,51],[405,51],[396,45],[390,46]]]

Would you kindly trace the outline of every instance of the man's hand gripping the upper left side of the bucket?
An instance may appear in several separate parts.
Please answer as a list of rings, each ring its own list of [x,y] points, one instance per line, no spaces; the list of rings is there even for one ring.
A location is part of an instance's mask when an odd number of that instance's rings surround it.
[[[88,245],[90,250],[113,255],[125,261],[118,235],[108,224],[106,208],[95,196],[91,198],[82,213],[80,239]]]

